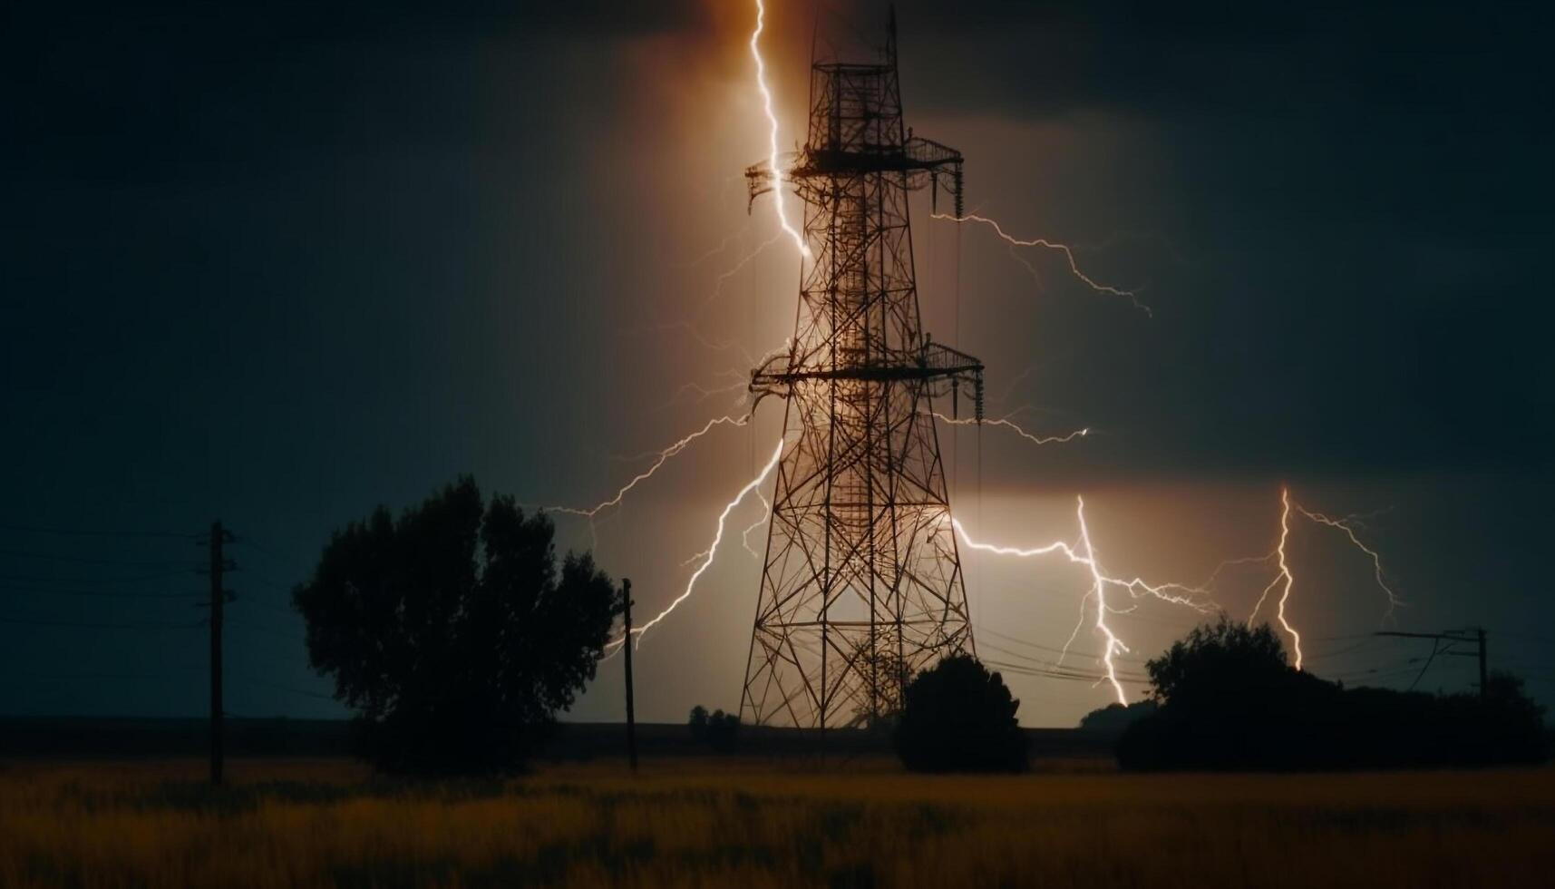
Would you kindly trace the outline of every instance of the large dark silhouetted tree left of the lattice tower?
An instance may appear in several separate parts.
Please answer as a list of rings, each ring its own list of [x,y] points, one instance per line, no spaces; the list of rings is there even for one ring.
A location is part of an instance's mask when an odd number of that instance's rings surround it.
[[[594,677],[620,596],[589,554],[557,565],[555,529],[473,478],[334,532],[292,592],[314,669],[358,712],[386,771],[522,763]]]

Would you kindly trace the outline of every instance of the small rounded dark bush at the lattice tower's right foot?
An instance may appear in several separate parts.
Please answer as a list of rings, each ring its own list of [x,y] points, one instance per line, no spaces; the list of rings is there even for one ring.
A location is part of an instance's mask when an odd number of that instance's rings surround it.
[[[958,654],[913,677],[896,727],[896,752],[914,772],[1019,772],[1026,735],[1005,679]]]

